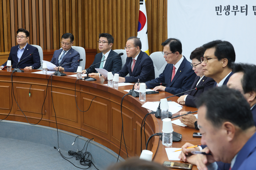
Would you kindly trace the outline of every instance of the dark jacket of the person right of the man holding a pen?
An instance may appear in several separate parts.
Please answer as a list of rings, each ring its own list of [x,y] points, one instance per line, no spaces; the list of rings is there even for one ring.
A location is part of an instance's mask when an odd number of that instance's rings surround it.
[[[196,76],[194,83],[192,84],[189,90],[196,88],[196,84],[199,81],[200,76]],[[189,107],[196,107],[195,100],[198,96],[200,96],[204,91],[209,90],[210,88],[214,87],[213,84],[215,83],[214,79],[210,77],[204,76],[202,80],[198,83],[197,86],[203,85],[204,88],[201,90],[193,90],[190,92],[186,92],[184,95],[187,95],[185,105]]]

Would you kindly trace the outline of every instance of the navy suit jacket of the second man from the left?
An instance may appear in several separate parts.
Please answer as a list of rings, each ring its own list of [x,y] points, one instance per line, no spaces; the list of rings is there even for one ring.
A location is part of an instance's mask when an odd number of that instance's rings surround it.
[[[55,50],[53,53],[53,56],[52,56],[52,60],[50,61],[51,63],[55,64],[57,67],[59,66],[58,58],[59,58],[59,55],[61,54],[61,52],[62,52],[62,49]],[[63,59],[60,62],[60,65],[69,63],[69,64],[61,66],[61,67],[63,67],[64,71],[66,71],[66,72],[76,72],[77,68],[79,66],[79,62],[74,62],[74,61],[79,60],[79,59],[80,59],[79,52],[75,51],[71,47],[70,50],[64,55]],[[70,62],[74,62],[74,63],[70,63]]]

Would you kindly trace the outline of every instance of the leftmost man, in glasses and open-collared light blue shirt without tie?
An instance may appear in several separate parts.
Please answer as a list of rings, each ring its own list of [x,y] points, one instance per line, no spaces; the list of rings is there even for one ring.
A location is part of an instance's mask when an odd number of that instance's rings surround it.
[[[22,60],[19,63],[18,68],[38,69],[41,66],[40,56],[38,49],[27,43],[29,40],[29,31],[23,28],[18,29],[16,40],[18,45],[11,48],[8,57],[8,60],[11,60],[12,68],[16,68],[18,62]],[[34,54],[27,57],[32,52]],[[7,62],[5,62],[0,68],[3,68],[6,64]]]

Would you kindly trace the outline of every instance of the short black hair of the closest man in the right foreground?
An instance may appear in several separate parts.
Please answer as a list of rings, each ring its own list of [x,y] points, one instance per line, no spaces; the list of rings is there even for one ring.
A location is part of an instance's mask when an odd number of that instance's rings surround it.
[[[227,86],[214,87],[204,92],[196,101],[196,106],[206,106],[206,119],[217,128],[226,121],[241,130],[255,126],[249,103],[240,91]]]

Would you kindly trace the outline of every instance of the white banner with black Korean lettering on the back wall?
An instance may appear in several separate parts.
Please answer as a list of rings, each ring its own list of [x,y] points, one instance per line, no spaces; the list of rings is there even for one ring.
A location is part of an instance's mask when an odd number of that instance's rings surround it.
[[[255,0],[168,0],[168,38],[181,40],[189,59],[195,48],[212,40],[229,41],[236,63],[256,64]]]

